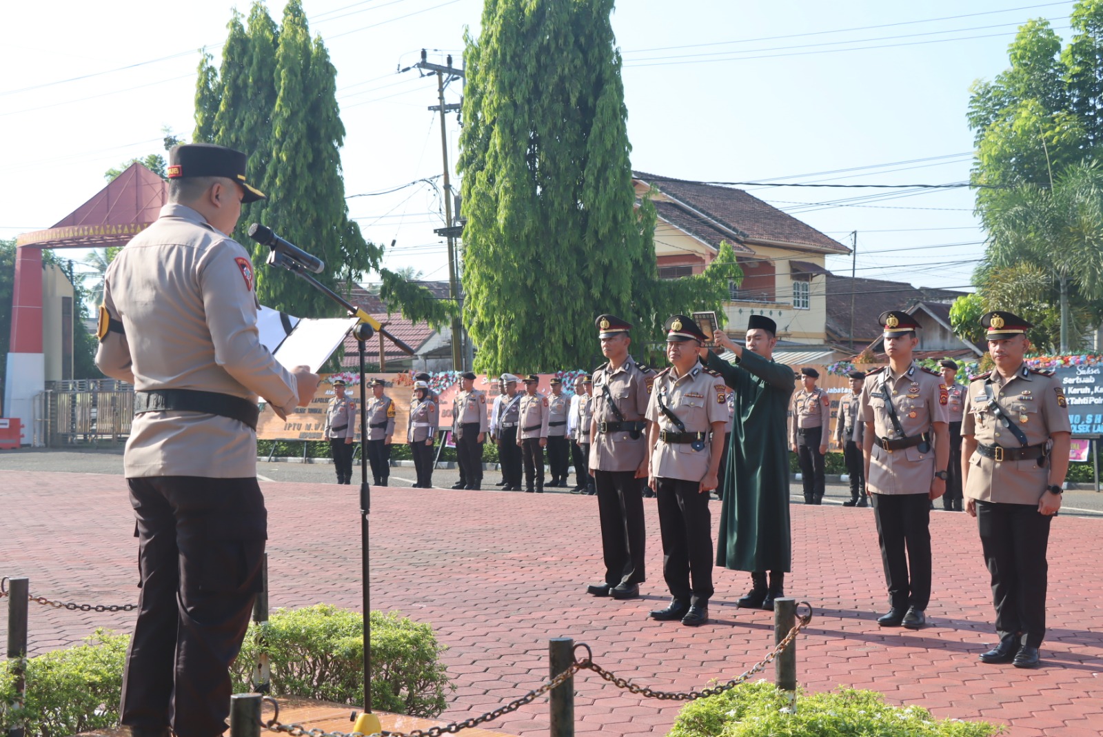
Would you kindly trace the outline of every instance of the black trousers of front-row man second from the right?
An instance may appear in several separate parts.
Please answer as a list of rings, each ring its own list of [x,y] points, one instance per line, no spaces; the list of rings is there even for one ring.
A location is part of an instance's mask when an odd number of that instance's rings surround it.
[[[931,498],[925,493],[870,498],[889,606],[927,609],[931,601]]]

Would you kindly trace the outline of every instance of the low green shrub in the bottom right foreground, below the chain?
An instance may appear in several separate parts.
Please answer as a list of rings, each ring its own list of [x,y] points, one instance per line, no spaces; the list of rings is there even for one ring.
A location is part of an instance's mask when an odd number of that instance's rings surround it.
[[[990,737],[986,722],[935,719],[919,706],[890,706],[872,691],[801,695],[793,707],[772,683],[758,682],[686,704],[667,737]]]

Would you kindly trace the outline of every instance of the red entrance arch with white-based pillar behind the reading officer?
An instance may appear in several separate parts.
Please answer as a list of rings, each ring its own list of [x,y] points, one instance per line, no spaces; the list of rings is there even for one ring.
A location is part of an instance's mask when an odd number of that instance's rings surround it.
[[[42,249],[124,246],[157,220],[167,195],[165,181],[136,162],[53,227],[15,238],[3,407],[7,417],[18,417],[23,424],[21,445],[33,437],[34,397],[45,388]]]

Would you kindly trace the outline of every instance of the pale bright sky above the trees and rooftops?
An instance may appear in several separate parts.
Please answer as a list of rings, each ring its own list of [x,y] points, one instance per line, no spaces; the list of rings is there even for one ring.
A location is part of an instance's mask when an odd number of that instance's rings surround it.
[[[283,4],[268,2],[277,21]],[[427,109],[437,102],[436,76],[398,70],[421,49],[430,61],[450,53],[461,65],[464,29],[478,36],[482,6],[303,0],[338,68],[350,214],[365,237],[388,246],[385,266],[413,267],[425,279],[447,279],[447,248],[432,233],[443,224],[440,119]],[[1051,19],[1067,36],[1072,7],[620,0],[612,25],[632,165],[717,182],[967,181],[970,86],[1007,67],[1007,45],[1027,19]],[[162,127],[190,139],[199,50],[219,57],[233,8],[226,0],[4,3],[0,238],[50,227],[104,186],[107,169],[163,153]],[[248,12],[244,1],[237,8]],[[446,102],[461,95],[453,83]],[[456,117],[446,119],[453,178]],[[837,274],[855,267],[860,277],[961,289],[984,250],[966,188],[742,189],[856,243],[855,259],[828,257]]]

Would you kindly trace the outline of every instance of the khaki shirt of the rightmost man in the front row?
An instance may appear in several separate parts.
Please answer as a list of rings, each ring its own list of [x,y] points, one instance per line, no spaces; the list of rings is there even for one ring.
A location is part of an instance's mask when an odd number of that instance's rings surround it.
[[[992,396],[999,408],[1026,435],[1028,446],[1047,442],[1053,432],[1072,431],[1061,380],[1024,365],[1008,380],[993,371],[970,382],[962,420],[963,437],[976,436],[977,442],[985,446],[1021,447],[988,408],[986,384],[992,386]],[[1036,459],[997,461],[974,452],[968,463],[967,499],[1035,505],[1049,485],[1049,463],[1038,466]]]

